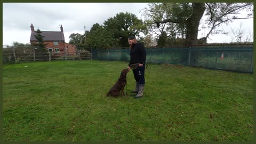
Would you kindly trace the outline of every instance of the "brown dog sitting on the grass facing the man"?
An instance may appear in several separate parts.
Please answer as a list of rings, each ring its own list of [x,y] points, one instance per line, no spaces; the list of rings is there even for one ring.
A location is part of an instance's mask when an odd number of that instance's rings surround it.
[[[128,72],[129,72],[128,69],[123,69],[122,70],[120,77],[118,78],[117,82],[109,90],[109,92],[107,94],[107,97],[110,94],[110,95],[112,95],[113,97],[116,98],[118,96],[118,94],[120,93],[120,91],[121,91],[122,95],[125,95],[124,94],[124,86],[126,84],[126,75],[127,75]]]

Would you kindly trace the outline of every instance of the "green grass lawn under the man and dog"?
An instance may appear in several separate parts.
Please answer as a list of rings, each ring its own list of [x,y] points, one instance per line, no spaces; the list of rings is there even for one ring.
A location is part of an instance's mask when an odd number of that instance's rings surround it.
[[[252,74],[149,64],[144,97],[106,97],[126,67],[97,60],[4,65],[4,140],[252,140]],[[130,71],[129,94],[134,83]]]

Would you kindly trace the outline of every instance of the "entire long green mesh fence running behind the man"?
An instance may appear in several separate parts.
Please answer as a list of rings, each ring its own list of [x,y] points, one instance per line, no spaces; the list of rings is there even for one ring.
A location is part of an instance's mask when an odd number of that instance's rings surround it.
[[[146,48],[146,52],[147,63],[170,63],[253,73],[253,47]],[[130,50],[93,49],[92,59],[130,61]]]

